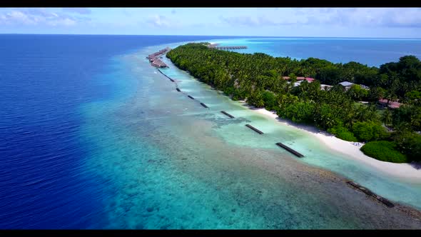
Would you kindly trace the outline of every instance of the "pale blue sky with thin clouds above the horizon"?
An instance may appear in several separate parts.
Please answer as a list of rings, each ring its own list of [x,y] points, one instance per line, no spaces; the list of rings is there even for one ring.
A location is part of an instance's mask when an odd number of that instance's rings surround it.
[[[421,8],[0,8],[0,34],[421,38]]]

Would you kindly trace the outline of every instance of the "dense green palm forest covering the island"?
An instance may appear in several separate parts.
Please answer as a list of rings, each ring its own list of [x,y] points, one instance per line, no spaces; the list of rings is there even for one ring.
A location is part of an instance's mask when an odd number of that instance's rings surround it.
[[[376,68],[353,61],[298,61],[186,44],[168,52],[167,57],[234,100],[246,99],[250,105],[276,111],[296,123],[318,126],[347,141],[390,141],[393,143],[381,144],[394,144],[410,160],[421,159],[421,135],[415,133],[421,130],[421,62],[415,56],[403,56],[398,62]],[[282,76],[290,76],[290,83]],[[316,81],[293,86],[297,76]],[[370,90],[353,85],[347,91],[338,85],[341,81],[363,84]],[[333,87],[322,90],[320,84]],[[405,106],[379,113],[379,99],[399,99]],[[369,104],[356,103],[362,100]],[[386,126],[393,131],[387,131]],[[372,156],[386,159],[383,153]]]

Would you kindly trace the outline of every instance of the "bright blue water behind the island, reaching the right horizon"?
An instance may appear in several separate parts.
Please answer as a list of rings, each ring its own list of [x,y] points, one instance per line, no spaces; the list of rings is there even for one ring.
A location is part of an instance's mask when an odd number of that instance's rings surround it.
[[[261,52],[272,56],[308,59],[314,57],[334,63],[357,61],[380,66],[398,61],[401,56],[421,57],[421,39],[350,39],[350,38],[260,38],[215,39],[221,45],[246,45],[239,52]]]

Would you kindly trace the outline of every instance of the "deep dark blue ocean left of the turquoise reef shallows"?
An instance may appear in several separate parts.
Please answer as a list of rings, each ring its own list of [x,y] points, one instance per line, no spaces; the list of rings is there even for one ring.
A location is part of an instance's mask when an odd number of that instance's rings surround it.
[[[78,136],[79,106],[121,92],[96,78],[113,56],[201,39],[0,35],[0,228],[101,227],[108,184],[81,170],[95,148]]]

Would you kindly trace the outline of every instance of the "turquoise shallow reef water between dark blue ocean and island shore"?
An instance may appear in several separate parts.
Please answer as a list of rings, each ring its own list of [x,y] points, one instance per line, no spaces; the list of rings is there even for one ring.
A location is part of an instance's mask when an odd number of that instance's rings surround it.
[[[418,207],[420,183],[362,168],[184,71],[163,69],[210,107],[203,108],[148,64],[146,55],[162,47],[113,59],[114,70],[98,80],[112,85],[116,96],[80,109],[81,136],[95,147],[84,166],[109,183],[101,201],[103,228],[420,228],[325,169]],[[278,141],[306,157],[291,156]]]

